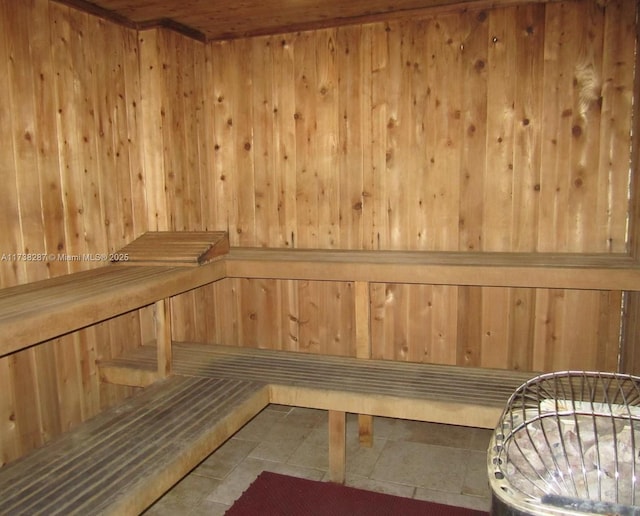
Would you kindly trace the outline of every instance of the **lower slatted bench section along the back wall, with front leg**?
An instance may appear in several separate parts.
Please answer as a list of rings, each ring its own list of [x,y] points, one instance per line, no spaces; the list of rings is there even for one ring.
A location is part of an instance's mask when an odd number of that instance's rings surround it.
[[[101,364],[152,370],[155,347]],[[176,374],[264,382],[269,401],[329,411],[330,476],[345,470],[345,413],[493,428],[509,396],[533,373],[174,343]],[[118,373],[116,373],[118,374]],[[123,375],[124,376],[124,375]]]

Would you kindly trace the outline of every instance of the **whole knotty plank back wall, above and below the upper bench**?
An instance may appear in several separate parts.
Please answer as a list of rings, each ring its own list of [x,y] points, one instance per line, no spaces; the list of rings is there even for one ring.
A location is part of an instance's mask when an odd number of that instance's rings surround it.
[[[208,45],[212,224],[247,246],[627,252],[636,6],[601,5]],[[175,304],[178,339],[355,353],[353,285],[210,290],[210,308]],[[620,292],[378,284],[371,297],[376,357],[618,366]]]

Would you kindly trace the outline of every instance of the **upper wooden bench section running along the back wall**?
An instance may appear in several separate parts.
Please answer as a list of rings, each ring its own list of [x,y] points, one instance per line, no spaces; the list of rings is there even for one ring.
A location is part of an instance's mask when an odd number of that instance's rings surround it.
[[[640,265],[625,254],[232,248],[226,262],[242,278],[640,290]]]

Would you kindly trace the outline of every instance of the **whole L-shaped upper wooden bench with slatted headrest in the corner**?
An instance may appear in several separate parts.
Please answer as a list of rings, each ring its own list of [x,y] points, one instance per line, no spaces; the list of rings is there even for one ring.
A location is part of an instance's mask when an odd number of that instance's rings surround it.
[[[225,232],[150,232],[118,262],[0,290],[0,356],[225,277],[640,291],[625,254],[229,248]]]

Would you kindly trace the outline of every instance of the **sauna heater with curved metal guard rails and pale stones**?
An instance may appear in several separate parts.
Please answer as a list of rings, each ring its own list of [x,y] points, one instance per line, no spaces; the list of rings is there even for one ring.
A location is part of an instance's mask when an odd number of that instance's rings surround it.
[[[509,399],[487,453],[494,515],[640,516],[640,377],[537,376]]]

